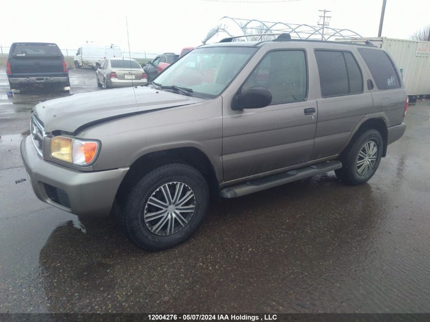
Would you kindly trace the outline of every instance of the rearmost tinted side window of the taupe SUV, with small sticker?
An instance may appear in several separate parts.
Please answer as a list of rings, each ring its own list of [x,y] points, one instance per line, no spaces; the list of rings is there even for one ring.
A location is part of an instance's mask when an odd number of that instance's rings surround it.
[[[385,51],[368,48],[360,48],[358,51],[366,62],[379,90],[400,87],[398,74]]]

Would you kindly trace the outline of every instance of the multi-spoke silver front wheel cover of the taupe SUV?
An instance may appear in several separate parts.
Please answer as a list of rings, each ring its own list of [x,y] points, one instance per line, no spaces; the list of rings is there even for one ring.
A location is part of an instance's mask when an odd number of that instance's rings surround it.
[[[144,220],[152,233],[167,236],[184,228],[194,211],[194,191],[182,182],[169,182],[156,189],[149,197],[144,210]]]

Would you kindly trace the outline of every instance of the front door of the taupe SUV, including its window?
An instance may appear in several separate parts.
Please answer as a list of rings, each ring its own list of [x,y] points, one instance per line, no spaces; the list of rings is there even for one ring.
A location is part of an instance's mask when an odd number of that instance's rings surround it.
[[[310,160],[317,102],[308,99],[306,52],[267,53],[240,91],[265,87],[272,103],[258,109],[223,108],[224,181],[233,181]]]

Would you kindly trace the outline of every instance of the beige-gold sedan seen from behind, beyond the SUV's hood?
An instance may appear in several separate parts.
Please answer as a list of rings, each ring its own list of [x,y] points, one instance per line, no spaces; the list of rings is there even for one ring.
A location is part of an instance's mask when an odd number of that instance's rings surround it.
[[[147,75],[132,58],[106,58],[96,71],[97,86],[128,87],[147,82]]]

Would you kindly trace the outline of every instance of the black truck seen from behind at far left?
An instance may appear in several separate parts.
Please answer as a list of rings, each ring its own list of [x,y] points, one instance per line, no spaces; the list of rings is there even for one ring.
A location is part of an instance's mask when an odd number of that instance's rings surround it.
[[[14,93],[23,86],[56,85],[70,90],[69,70],[63,53],[53,43],[13,43],[6,64]]]

